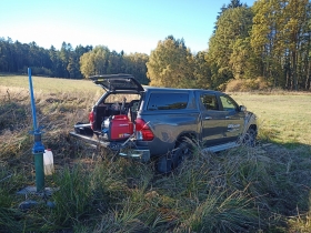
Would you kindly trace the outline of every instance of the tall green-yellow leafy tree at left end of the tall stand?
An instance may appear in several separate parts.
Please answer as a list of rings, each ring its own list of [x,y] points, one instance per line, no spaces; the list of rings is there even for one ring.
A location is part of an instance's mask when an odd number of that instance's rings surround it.
[[[237,71],[237,62],[232,58],[233,52],[242,54],[242,49],[237,48],[237,41],[243,41],[249,37],[249,31],[252,26],[252,11],[248,7],[238,7],[227,9],[217,21],[217,31],[209,41],[208,62],[212,69],[212,85],[219,87],[230,79],[234,78]],[[235,51],[233,51],[235,49]],[[245,58],[242,59],[244,60]],[[233,70],[235,69],[235,71]]]

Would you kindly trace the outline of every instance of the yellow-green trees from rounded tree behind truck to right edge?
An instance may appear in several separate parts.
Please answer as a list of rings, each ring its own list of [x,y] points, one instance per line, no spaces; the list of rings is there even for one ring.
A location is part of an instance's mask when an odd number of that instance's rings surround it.
[[[152,84],[224,89],[232,80],[272,88],[310,90],[311,4],[309,0],[231,0],[215,21],[209,49],[191,54],[168,37],[150,54]],[[251,82],[253,81],[253,82]]]

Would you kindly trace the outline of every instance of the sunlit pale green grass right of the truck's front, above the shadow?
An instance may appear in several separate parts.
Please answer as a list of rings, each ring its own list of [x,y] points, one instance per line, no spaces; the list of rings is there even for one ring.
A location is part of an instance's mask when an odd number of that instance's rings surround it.
[[[311,93],[233,94],[258,115],[260,136],[287,144],[311,144]]]

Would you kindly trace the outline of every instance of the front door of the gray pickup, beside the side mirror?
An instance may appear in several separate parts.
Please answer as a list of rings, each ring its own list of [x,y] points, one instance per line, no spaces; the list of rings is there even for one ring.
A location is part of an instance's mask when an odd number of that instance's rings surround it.
[[[229,95],[220,95],[220,102],[227,119],[224,129],[225,141],[237,141],[243,130],[244,112],[240,111],[238,103]]]

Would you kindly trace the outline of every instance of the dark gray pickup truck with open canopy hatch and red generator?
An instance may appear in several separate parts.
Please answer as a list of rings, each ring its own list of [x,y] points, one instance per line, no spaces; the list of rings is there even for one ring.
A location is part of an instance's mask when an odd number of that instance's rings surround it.
[[[160,172],[170,172],[190,155],[191,140],[211,152],[254,145],[255,115],[225,93],[142,87],[130,74],[90,79],[106,92],[89,122],[76,124],[70,133],[88,143],[142,161],[157,158]]]

